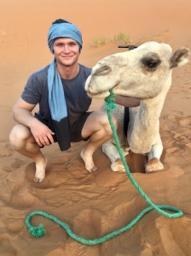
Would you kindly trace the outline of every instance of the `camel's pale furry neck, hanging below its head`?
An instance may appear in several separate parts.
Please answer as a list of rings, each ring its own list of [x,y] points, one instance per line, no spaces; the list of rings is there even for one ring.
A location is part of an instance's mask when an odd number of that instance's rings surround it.
[[[159,116],[165,102],[165,96],[170,86],[160,92],[155,98],[141,101],[140,108],[136,113],[133,127],[130,131],[130,148],[136,153],[150,152],[151,147],[156,143],[159,133]]]

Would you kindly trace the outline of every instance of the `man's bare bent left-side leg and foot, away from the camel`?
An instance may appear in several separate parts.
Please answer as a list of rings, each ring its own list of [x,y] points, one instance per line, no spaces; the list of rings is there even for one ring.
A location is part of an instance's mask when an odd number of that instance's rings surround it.
[[[40,151],[37,142],[32,136],[31,130],[22,124],[17,124],[11,130],[9,140],[15,151],[20,152],[20,154],[27,158],[32,158],[36,164],[34,181],[42,182],[45,177],[45,168],[48,160]]]

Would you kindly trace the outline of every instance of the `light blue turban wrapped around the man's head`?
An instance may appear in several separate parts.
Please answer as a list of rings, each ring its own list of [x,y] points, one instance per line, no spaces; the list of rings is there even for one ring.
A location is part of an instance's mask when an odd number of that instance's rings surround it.
[[[82,34],[78,27],[69,22],[55,23],[49,27],[48,45],[49,50],[53,53],[54,39],[69,38],[78,42],[80,49],[82,48]]]

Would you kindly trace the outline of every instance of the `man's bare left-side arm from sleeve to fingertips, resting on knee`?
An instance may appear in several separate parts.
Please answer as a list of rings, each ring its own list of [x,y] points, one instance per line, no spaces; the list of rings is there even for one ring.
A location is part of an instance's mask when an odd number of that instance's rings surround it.
[[[14,121],[30,128],[39,146],[52,144],[54,143],[52,137],[54,133],[43,122],[32,116],[32,110],[35,106],[36,104],[28,104],[19,98],[13,109]]]

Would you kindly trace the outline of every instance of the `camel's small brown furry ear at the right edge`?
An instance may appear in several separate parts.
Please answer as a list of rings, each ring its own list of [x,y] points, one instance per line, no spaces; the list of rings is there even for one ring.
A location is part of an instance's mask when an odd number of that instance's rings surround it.
[[[170,67],[175,68],[177,66],[182,66],[188,63],[188,59],[190,56],[190,51],[186,47],[182,47],[175,51],[170,59]]]

